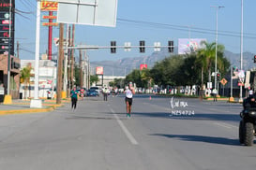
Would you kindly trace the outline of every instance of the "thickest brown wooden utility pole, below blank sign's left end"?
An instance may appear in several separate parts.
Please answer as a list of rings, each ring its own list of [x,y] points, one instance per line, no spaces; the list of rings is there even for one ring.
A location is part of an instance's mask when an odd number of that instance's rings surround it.
[[[57,100],[56,104],[61,104],[62,95],[62,69],[63,69],[63,34],[64,34],[64,23],[60,23],[59,31],[59,57],[58,57],[58,75],[57,75]]]

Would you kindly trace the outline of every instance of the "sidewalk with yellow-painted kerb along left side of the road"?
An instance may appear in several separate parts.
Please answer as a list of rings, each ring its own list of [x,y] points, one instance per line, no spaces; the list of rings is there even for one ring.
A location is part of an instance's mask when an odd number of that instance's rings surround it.
[[[55,100],[42,100],[42,108],[30,107],[30,100],[12,100],[11,105],[0,103],[0,115],[25,114],[53,111],[57,106],[64,106],[69,100],[62,100],[61,105],[57,105]]]

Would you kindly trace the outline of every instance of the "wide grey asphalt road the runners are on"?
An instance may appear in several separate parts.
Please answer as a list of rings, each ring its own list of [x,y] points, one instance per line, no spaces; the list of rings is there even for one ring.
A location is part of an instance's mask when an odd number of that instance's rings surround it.
[[[136,95],[91,97],[53,112],[0,117],[0,169],[252,170],[238,141],[240,104]]]

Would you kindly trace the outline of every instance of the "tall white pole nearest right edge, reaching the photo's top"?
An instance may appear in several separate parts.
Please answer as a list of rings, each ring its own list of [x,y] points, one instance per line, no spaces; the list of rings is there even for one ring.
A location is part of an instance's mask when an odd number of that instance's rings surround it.
[[[243,70],[243,35],[244,34],[244,0],[241,0],[241,46],[240,46],[240,69],[241,71]],[[240,86],[240,97],[239,97],[239,102],[243,102],[243,86],[241,83]]]

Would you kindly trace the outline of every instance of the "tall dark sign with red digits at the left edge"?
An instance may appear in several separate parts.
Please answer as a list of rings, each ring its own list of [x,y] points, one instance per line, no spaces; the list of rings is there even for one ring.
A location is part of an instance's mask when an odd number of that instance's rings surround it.
[[[11,7],[11,18],[9,7]],[[9,0],[0,1],[0,54],[7,53],[10,50],[10,54],[14,55],[14,8],[15,0],[12,0],[11,4]],[[9,41],[10,49],[8,46]]]

